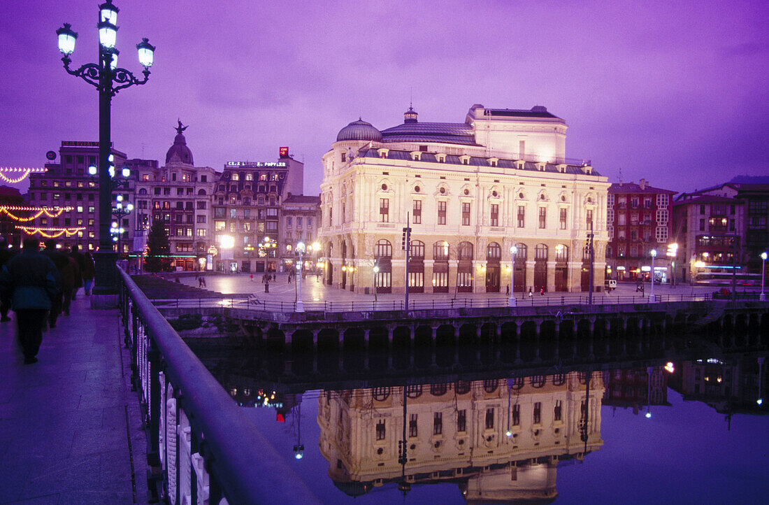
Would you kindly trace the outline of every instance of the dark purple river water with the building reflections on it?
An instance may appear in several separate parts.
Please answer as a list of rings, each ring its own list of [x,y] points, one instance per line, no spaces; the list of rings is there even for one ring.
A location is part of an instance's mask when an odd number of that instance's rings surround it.
[[[712,342],[557,363],[389,356],[412,364],[380,372],[338,354],[201,357],[323,503],[761,503],[766,347]]]

